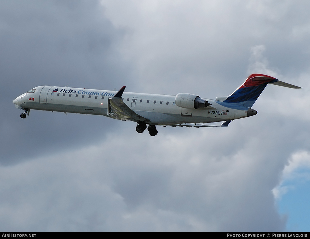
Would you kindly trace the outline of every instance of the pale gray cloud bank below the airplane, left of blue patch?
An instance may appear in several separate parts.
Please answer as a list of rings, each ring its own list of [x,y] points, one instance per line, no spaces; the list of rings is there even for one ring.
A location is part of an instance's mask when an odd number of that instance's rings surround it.
[[[14,221],[30,207],[29,222],[42,231],[284,230],[271,192],[287,160],[286,152],[272,150],[283,144],[282,135],[268,134],[261,142],[266,131],[245,138],[252,127],[239,127],[176,135],[161,131],[146,144],[148,135],[123,128],[122,138],[108,135],[97,145],[7,167],[2,181],[10,181],[15,194],[3,193],[11,207],[1,218]],[[238,141],[238,149],[221,150],[227,142],[219,145],[219,138],[224,137]],[[20,220],[28,230],[31,225]]]

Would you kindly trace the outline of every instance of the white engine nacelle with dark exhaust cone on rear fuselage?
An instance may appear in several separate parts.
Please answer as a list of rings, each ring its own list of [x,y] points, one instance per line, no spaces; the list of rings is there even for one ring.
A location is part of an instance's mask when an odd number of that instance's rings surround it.
[[[207,100],[201,99],[198,95],[179,93],[175,96],[175,104],[182,108],[198,109],[211,105]]]

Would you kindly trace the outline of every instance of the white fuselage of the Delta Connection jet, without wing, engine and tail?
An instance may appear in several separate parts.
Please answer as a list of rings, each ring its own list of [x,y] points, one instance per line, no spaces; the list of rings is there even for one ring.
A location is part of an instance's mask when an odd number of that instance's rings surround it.
[[[37,86],[34,92],[17,97],[13,103],[22,109],[96,114],[110,117],[108,99],[117,91],[103,91],[61,86]],[[32,90],[32,91],[33,91]],[[204,108],[183,108],[175,104],[176,96],[123,92],[123,102],[148,124],[175,125],[210,123],[247,117],[247,108],[209,100]],[[239,107],[239,108],[238,108]]]

